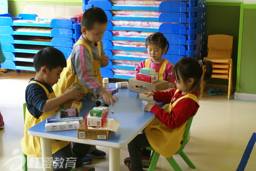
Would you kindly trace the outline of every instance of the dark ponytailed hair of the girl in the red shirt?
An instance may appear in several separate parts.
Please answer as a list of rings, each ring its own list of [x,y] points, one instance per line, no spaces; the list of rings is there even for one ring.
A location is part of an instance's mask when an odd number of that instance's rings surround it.
[[[208,60],[197,60],[194,57],[183,57],[174,65],[175,79],[183,82],[187,82],[189,78],[194,78],[194,84],[191,89],[197,88],[201,83],[201,78],[203,75],[203,66],[206,67],[206,72],[204,73],[203,80],[209,80],[212,74],[212,62]],[[180,77],[179,78],[179,75]]]

